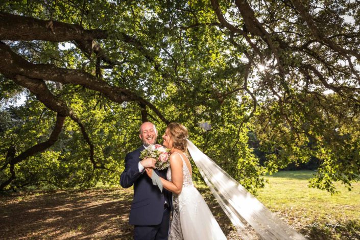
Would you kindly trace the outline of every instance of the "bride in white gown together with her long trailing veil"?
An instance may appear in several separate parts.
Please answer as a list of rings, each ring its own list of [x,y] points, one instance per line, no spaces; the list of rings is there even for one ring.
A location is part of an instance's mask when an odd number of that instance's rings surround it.
[[[163,145],[171,149],[170,167],[166,175],[169,181],[160,178],[163,187],[174,193],[169,239],[226,239],[206,202],[193,185],[191,165],[185,154],[187,150],[211,193],[243,238],[306,239],[189,141],[187,129],[183,125],[169,124],[162,138]],[[153,175],[152,169],[146,171],[149,177]]]

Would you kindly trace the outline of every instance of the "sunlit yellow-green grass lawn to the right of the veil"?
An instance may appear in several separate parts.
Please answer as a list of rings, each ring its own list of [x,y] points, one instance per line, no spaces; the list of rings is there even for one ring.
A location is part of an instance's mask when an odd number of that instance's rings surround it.
[[[258,199],[309,239],[360,239],[360,182],[338,194],[309,188],[313,171],[284,171],[267,176]]]

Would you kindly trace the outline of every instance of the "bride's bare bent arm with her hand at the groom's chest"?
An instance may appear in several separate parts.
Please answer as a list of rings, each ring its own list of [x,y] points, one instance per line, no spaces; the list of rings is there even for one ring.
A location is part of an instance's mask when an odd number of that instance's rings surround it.
[[[166,179],[163,179],[160,177],[162,186],[172,191],[175,194],[180,194],[182,190],[182,183],[184,180],[184,176],[182,174],[182,161],[181,158],[178,156],[178,154],[172,154],[170,156],[170,168],[171,168],[171,179],[172,182],[167,181]],[[152,175],[152,169],[145,169],[146,173],[151,177]]]

